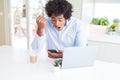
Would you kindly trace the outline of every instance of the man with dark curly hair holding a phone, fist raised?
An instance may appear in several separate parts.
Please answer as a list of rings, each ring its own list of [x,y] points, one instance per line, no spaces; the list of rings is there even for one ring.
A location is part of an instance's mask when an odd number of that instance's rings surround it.
[[[72,16],[72,5],[66,0],[49,0],[45,6],[49,18],[39,16],[37,34],[32,42],[32,48],[41,50],[47,39],[48,57],[61,58],[64,47],[86,46],[87,39],[78,19]]]

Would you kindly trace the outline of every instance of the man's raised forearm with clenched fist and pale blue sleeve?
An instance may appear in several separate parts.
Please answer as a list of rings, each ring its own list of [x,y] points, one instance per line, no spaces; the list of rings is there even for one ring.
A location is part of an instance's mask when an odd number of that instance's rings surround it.
[[[37,28],[37,32],[36,32],[36,35],[35,35],[35,37],[32,41],[31,46],[32,46],[33,50],[42,50],[43,45],[45,45],[45,42],[46,42],[46,37],[45,37],[45,34],[44,34],[46,19],[42,16],[39,16],[36,19],[36,23],[38,25],[38,28]]]

